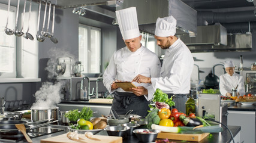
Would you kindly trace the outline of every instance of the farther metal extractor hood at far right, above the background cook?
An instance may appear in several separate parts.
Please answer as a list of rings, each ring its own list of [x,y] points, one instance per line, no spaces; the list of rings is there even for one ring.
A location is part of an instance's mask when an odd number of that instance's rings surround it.
[[[209,33],[209,35],[211,35]],[[245,52],[252,51],[252,34],[227,35],[227,45],[188,45],[191,52]]]

